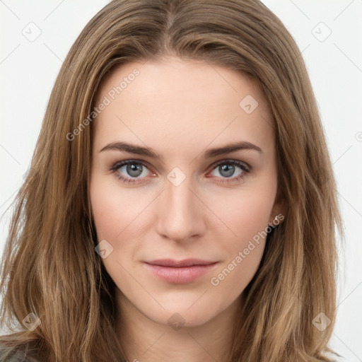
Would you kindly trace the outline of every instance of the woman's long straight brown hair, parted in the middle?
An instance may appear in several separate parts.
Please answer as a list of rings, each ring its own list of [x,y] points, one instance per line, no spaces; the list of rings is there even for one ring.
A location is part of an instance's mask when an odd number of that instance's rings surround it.
[[[256,0],[115,0],[83,29],[59,71],[16,197],[1,264],[1,327],[11,333],[1,341],[49,362],[125,357],[115,284],[94,250],[95,94],[116,64],[169,54],[250,74],[274,117],[286,217],[242,294],[228,361],[332,361],[336,226],[343,235],[334,174],[296,42]],[[29,313],[40,319],[34,330],[23,322]],[[317,328],[315,318],[327,327]]]

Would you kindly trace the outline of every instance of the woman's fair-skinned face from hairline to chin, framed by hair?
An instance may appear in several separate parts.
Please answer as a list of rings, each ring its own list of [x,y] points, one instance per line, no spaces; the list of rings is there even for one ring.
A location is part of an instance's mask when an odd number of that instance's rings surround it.
[[[134,62],[104,79],[97,105],[91,205],[120,308],[185,326],[234,308],[280,211],[255,81],[207,62]]]

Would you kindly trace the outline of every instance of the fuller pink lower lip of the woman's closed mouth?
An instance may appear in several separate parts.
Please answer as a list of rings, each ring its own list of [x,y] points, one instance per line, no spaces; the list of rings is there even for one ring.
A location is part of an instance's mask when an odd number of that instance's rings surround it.
[[[169,283],[185,284],[191,283],[192,281],[198,279],[200,276],[203,276],[217,264],[207,264],[207,265],[193,265],[192,267],[161,267],[160,265],[153,265],[144,263],[146,268],[149,269],[153,274],[158,276],[158,278],[168,281]]]

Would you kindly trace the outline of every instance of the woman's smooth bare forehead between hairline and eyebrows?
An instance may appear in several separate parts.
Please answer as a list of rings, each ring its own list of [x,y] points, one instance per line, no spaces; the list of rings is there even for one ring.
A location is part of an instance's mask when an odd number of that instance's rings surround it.
[[[185,142],[241,139],[273,146],[271,114],[257,82],[209,62],[171,57],[122,64],[100,84],[101,103],[107,105],[93,122],[97,146],[119,139],[175,151]]]

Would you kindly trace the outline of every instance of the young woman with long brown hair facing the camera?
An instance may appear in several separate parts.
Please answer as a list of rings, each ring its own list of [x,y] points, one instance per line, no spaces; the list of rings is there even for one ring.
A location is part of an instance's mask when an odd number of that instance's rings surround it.
[[[333,361],[335,187],[303,59],[262,3],[111,1],[18,193],[3,360]]]

